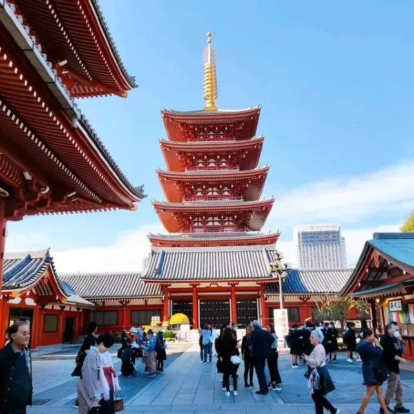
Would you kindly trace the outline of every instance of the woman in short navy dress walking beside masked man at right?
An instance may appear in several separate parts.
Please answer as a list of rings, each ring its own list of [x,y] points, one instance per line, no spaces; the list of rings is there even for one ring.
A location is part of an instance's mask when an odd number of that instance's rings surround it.
[[[362,397],[358,414],[364,414],[365,408],[375,393],[384,414],[389,414],[384,401],[384,395],[382,395],[382,383],[386,381],[389,371],[381,363],[382,348],[380,342],[373,335],[373,331],[368,328],[360,333],[360,337],[361,340],[357,346],[357,353],[362,359],[362,377],[364,377],[362,384],[366,386],[366,393]]]

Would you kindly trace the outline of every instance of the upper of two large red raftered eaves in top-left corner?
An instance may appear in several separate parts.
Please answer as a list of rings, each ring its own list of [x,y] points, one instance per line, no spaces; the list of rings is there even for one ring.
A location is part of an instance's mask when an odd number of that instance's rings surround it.
[[[47,55],[72,96],[126,96],[137,86],[119,57],[97,0],[1,3],[23,21],[34,46]]]

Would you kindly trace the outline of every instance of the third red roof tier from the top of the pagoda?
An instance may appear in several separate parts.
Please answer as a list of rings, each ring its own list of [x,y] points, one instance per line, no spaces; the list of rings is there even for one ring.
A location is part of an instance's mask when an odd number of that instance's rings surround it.
[[[239,187],[246,201],[260,198],[269,167],[255,170],[191,170],[171,172],[157,170],[159,182],[168,201],[172,203],[188,199],[187,190],[193,186]],[[194,196],[195,198],[195,196]],[[195,200],[196,201],[196,200]]]

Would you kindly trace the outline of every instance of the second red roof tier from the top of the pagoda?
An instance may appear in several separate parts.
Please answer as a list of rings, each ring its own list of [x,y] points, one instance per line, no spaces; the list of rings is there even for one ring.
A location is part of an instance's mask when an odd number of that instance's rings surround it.
[[[252,170],[259,164],[264,135],[246,141],[197,141],[174,142],[160,139],[159,144],[169,170],[185,171],[188,159],[194,157],[233,156],[239,162],[240,170]]]

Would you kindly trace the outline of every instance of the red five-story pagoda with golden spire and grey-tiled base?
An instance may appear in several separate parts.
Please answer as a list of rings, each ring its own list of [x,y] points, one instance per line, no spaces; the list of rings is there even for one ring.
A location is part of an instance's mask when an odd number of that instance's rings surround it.
[[[166,293],[164,319],[186,313],[197,328],[230,318],[246,324],[264,313],[279,233],[262,229],[273,198],[260,199],[269,167],[259,166],[264,136],[255,136],[260,108],[216,105],[216,52],[204,50],[202,110],[162,110],[167,169],[157,170],[166,201],[152,201],[170,235],[152,244],[144,279]],[[257,305],[262,297],[262,306]]]

